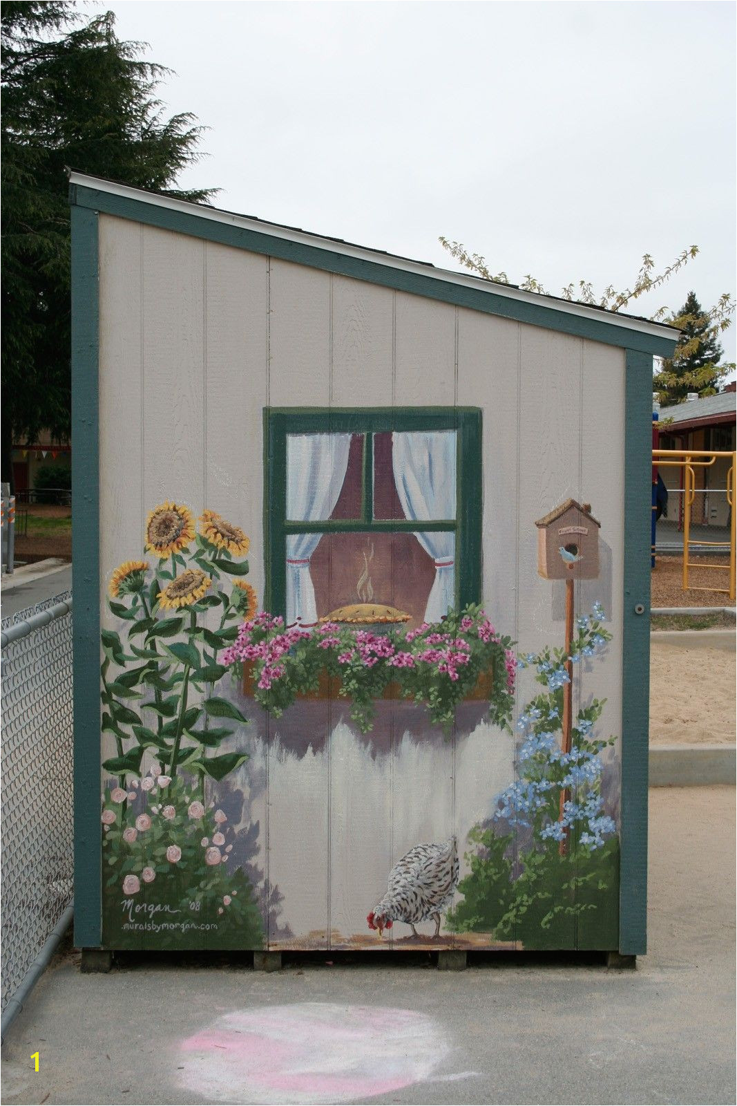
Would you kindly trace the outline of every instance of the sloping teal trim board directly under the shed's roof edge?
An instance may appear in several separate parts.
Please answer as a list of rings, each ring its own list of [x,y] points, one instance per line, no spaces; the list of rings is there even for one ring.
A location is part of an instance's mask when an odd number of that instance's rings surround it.
[[[254,231],[245,227],[235,227],[232,223],[215,222],[200,216],[189,215],[186,211],[173,211],[171,208],[158,207],[155,204],[146,202],[146,200],[134,200],[96,188],[86,188],[82,185],[72,186],[70,198],[72,204],[120,219],[131,219],[150,227],[159,227],[162,230],[172,230],[181,234],[190,234],[193,238],[220,242],[223,246],[250,250],[252,253],[263,253],[282,261],[292,261],[296,264],[309,265],[313,269],[322,269],[325,272],[352,276],[370,284],[381,284],[400,292],[410,292],[430,300],[453,303],[460,307],[470,307],[472,311],[513,319],[516,322],[528,323],[530,326],[543,326],[546,330],[589,338],[592,342],[602,342],[606,345],[640,349],[643,353],[661,357],[671,357],[675,348],[675,337],[657,337],[652,334],[643,334],[640,331],[628,330],[625,326],[612,326],[611,323],[607,322],[606,316],[598,320],[572,315],[552,306],[555,302],[552,299],[550,305],[545,302],[545,298],[541,298],[539,303],[510,300],[485,289],[454,284],[451,281],[438,280],[422,273],[394,269],[377,261],[350,257],[340,253],[337,248],[330,250],[305,242],[293,242],[266,231]]]

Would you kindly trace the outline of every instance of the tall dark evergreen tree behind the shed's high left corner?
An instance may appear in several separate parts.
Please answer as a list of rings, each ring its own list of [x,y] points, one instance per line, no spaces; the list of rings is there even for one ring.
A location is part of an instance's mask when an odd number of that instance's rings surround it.
[[[13,442],[70,434],[70,207],[65,167],[182,199],[201,127],[166,118],[167,70],[116,38],[112,12],[83,20],[69,0],[3,0],[2,479]]]

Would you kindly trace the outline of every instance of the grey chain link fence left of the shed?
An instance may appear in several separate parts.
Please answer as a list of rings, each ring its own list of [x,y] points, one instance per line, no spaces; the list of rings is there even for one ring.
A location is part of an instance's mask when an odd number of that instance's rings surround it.
[[[72,593],[2,619],[2,1010],[73,894]]]

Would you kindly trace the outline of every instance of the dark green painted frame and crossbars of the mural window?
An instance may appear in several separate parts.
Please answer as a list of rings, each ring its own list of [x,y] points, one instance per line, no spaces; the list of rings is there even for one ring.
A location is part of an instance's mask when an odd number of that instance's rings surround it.
[[[286,538],[295,533],[399,533],[455,531],[455,602],[459,608],[481,602],[482,437],[478,407],[266,407],[264,408],[264,570],[265,607],[286,613]],[[422,522],[375,519],[373,434],[456,431],[455,519]],[[294,434],[365,434],[360,519],[294,522],[286,518],[286,439]]]

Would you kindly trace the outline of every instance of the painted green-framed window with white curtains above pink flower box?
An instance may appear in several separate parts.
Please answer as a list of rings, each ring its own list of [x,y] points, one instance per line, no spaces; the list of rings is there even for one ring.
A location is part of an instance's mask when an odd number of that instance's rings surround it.
[[[287,625],[478,602],[481,411],[266,409],[266,601]],[[391,617],[391,615],[388,615]]]

